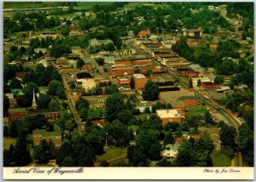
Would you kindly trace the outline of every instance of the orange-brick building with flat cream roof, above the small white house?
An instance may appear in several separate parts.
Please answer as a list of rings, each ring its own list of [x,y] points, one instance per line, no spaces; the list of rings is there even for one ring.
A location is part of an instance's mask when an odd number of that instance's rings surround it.
[[[182,122],[182,117],[177,110],[156,110],[156,115],[162,120],[162,125],[166,125],[168,122]]]

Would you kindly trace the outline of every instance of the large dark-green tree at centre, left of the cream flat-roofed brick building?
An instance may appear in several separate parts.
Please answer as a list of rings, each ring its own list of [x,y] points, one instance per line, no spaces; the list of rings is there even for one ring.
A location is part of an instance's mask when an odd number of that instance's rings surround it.
[[[108,122],[112,122],[115,118],[117,118],[117,115],[119,111],[122,110],[124,105],[124,97],[122,94],[115,93],[108,97],[106,100],[106,119]]]

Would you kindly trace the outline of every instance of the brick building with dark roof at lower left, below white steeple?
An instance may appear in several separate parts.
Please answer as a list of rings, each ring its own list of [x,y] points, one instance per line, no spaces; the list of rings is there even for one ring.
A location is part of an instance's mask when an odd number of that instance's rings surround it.
[[[61,146],[61,129],[58,125],[51,125],[42,129],[35,129],[32,132],[33,145],[40,145],[45,139],[48,143],[52,141],[56,148]]]

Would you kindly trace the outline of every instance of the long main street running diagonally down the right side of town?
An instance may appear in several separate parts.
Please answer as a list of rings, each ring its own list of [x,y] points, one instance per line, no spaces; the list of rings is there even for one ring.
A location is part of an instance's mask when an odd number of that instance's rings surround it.
[[[153,57],[142,51],[140,48],[138,48],[136,45],[133,43],[129,42],[126,43],[127,46],[134,48],[137,50],[138,53],[144,54],[147,56],[148,59],[152,60],[154,63],[157,63],[160,65],[164,70],[168,71],[172,77],[177,80],[183,86],[183,88],[189,88],[189,85],[185,82],[183,82],[180,77],[177,76],[175,71],[172,71],[170,68],[168,68],[166,65],[163,65],[160,63],[158,60],[155,60]],[[207,105],[211,106],[215,111],[217,111],[220,115],[222,115],[224,118],[226,118],[226,121],[229,122],[229,124],[236,128],[236,139],[239,138],[239,133],[238,133],[238,128],[241,125],[241,121],[234,117],[233,113],[231,111],[228,111],[224,105],[218,105],[217,102],[215,102],[212,99],[207,99],[203,94],[201,94],[199,91],[194,89],[195,97],[197,97],[199,100],[203,101]],[[244,162],[242,160],[241,152],[236,152],[236,157],[235,157],[235,163],[237,167],[242,167],[244,166]]]

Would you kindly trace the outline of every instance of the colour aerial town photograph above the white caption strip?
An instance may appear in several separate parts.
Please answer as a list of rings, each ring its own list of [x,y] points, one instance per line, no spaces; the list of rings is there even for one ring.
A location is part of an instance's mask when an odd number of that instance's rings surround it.
[[[4,2],[4,167],[253,167],[253,3]]]

